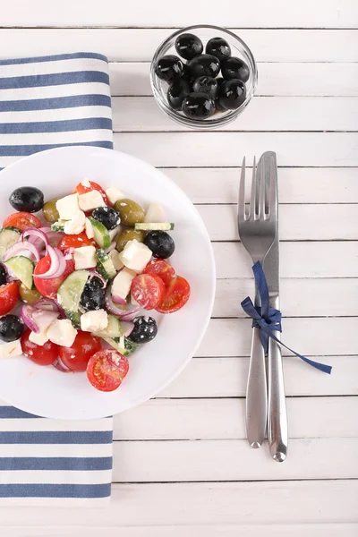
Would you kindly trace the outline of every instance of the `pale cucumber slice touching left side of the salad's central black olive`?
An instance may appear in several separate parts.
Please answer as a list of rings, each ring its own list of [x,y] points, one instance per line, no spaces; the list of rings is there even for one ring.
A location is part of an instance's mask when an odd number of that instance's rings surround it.
[[[81,320],[80,301],[84,286],[90,277],[88,270],[75,270],[66,277],[57,291],[57,301],[64,308],[66,316],[72,325],[78,326]]]

